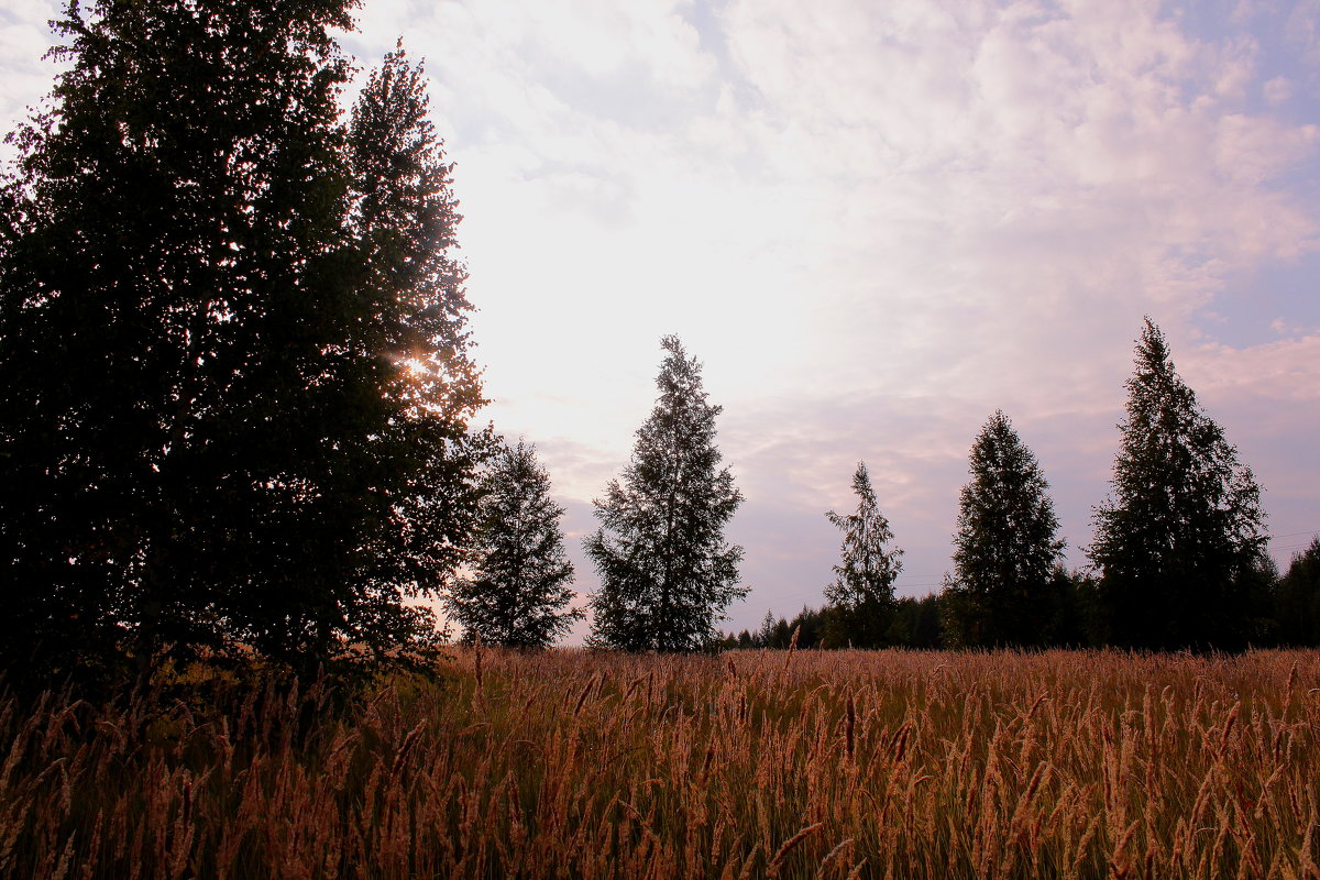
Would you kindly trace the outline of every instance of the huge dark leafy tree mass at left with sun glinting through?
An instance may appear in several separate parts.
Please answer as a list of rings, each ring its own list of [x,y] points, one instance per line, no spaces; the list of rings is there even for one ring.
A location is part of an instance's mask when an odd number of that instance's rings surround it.
[[[400,54],[345,0],[70,1],[0,194],[5,664],[425,633],[466,544],[463,274]]]

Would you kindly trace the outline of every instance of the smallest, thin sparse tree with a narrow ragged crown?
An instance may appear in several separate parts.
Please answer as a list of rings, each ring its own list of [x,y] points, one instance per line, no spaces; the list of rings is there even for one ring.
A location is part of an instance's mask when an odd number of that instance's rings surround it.
[[[853,492],[854,513],[825,513],[843,530],[834,582],[825,587],[830,604],[826,639],[832,645],[879,648],[888,643],[894,621],[894,581],[903,570],[903,550],[888,546],[894,532],[876,504],[865,462],[858,462],[853,474]]]

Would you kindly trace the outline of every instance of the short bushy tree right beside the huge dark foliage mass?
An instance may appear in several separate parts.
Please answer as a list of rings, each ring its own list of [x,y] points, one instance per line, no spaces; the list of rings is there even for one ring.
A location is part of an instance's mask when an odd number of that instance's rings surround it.
[[[536,450],[506,447],[482,480],[473,573],[445,603],[466,637],[510,648],[548,648],[585,612],[570,608],[573,563],[564,550],[564,508]]]

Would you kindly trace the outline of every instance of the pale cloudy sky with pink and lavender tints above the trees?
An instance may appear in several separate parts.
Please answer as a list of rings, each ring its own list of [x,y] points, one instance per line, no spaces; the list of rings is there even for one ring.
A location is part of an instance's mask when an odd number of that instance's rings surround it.
[[[5,129],[49,91],[58,7],[0,9]],[[725,628],[821,604],[859,460],[899,595],[939,588],[997,409],[1084,566],[1143,315],[1255,471],[1274,557],[1320,533],[1320,0],[366,0],[358,22],[364,69],[400,37],[425,59],[482,418],[537,446],[579,600],[665,334],[746,496]]]

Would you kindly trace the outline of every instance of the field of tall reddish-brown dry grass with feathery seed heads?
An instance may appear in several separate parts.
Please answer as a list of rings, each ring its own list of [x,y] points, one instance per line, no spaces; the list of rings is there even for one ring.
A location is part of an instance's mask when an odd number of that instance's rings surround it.
[[[5,877],[1320,877],[1320,653],[455,652],[0,706]]]

